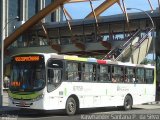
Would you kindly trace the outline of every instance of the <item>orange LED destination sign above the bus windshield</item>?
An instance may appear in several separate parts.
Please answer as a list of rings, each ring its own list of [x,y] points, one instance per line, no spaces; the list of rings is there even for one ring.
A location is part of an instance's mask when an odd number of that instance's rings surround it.
[[[25,61],[39,61],[40,57],[39,56],[19,56],[19,57],[15,57],[15,61],[17,62],[25,62]]]

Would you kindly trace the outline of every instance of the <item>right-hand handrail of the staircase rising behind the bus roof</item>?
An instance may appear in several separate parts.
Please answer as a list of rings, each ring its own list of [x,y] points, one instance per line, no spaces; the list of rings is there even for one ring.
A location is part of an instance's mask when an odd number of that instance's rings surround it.
[[[139,47],[139,45],[144,41],[144,40],[146,40],[146,37],[148,37],[148,34],[153,30],[154,28],[151,28],[146,34],[145,34],[145,36],[143,36],[143,38],[138,42],[138,45],[136,46],[136,48],[134,49],[134,50],[136,50],[138,47]],[[127,49],[128,47],[130,47],[130,44],[128,44],[127,45],[127,47],[125,47],[125,49]],[[116,61],[123,55],[123,53],[124,53],[125,51],[124,51],[124,49],[123,49],[123,51],[122,51],[122,53],[115,59]]]

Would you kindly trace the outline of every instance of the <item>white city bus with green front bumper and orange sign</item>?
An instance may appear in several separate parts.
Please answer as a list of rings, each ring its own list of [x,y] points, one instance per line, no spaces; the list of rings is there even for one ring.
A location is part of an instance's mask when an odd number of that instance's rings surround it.
[[[11,58],[9,106],[65,110],[133,105],[155,101],[152,65],[136,65],[56,53],[18,54]]]

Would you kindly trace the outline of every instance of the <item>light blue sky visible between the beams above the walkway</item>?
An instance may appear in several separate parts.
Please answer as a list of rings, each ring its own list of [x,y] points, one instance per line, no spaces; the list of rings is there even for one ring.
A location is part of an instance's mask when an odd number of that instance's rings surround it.
[[[96,8],[98,5],[103,3],[105,0],[94,1],[93,7]],[[150,0],[153,6],[153,9],[158,7],[158,0]],[[127,8],[138,8],[142,10],[151,10],[148,0],[125,0],[125,4]],[[73,19],[82,19],[85,18],[92,10],[89,2],[81,2],[81,3],[69,3],[65,5],[67,11],[71,14]],[[129,12],[139,12],[135,10],[128,11]],[[116,3],[108,10],[104,11],[100,16],[108,16],[122,14],[122,10],[119,5]]]

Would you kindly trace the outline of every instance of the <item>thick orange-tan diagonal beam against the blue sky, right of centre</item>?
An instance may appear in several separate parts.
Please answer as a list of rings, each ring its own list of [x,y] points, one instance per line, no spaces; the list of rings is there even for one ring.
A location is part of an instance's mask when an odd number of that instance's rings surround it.
[[[119,0],[106,0],[101,5],[99,5],[94,11],[96,13],[96,16],[99,16],[102,12],[104,12],[106,9],[117,3]],[[93,18],[93,12],[89,13],[86,18]]]

